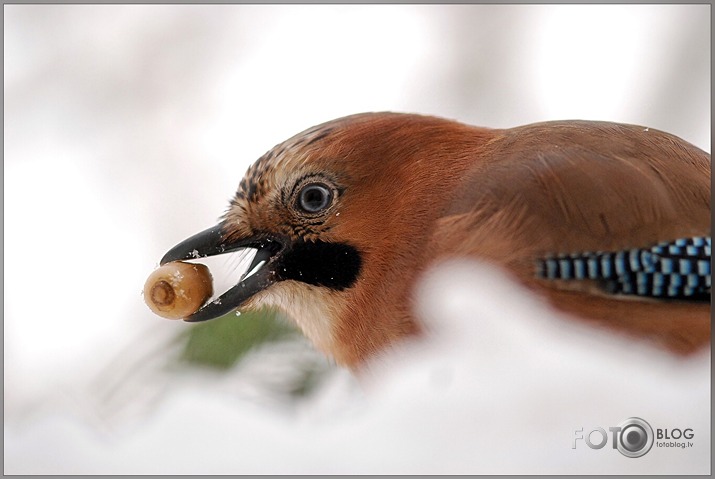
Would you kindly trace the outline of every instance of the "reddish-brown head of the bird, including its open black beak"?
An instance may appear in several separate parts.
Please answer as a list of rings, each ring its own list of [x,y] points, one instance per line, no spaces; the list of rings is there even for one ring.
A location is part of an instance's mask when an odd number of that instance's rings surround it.
[[[257,250],[237,285],[186,320],[278,307],[348,366],[416,333],[410,291],[425,243],[460,157],[480,140],[446,120],[368,113],[277,145],[248,169],[218,225],[162,259]]]

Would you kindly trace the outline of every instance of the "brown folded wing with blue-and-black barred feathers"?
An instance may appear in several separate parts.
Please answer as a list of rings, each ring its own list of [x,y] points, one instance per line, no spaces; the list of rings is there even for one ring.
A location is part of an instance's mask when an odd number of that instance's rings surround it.
[[[559,309],[689,352],[710,335],[710,165],[633,125],[503,130],[455,188],[431,247],[497,263]],[[677,300],[653,299],[665,297]]]

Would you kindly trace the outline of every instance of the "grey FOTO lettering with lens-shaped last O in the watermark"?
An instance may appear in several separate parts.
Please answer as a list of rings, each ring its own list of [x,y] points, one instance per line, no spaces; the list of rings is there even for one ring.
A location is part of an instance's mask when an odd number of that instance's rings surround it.
[[[611,433],[611,447],[626,457],[644,456],[653,447],[653,428],[639,417],[629,417],[618,426],[609,427],[608,431]],[[591,449],[602,449],[609,442],[609,434],[602,427],[596,427],[587,434],[583,428],[574,432],[572,449],[576,449],[580,440]]]

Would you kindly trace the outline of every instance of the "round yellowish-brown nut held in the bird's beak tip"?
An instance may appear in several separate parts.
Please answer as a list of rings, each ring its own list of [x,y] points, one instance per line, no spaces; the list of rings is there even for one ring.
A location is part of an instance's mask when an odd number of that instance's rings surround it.
[[[149,275],[144,284],[144,301],[163,318],[185,318],[211,297],[212,280],[203,264],[172,261]]]

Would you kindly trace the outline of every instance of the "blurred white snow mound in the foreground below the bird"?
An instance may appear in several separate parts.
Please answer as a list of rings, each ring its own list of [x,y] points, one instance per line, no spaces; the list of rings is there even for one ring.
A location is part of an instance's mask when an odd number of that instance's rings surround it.
[[[359,382],[333,374],[292,411],[186,378],[138,426],[111,434],[58,412],[6,427],[5,472],[709,472],[709,352],[677,359],[575,324],[479,263],[442,265],[419,297],[426,339],[376,359]],[[572,448],[576,429],[631,416],[692,428],[694,447],[638,459]]]

